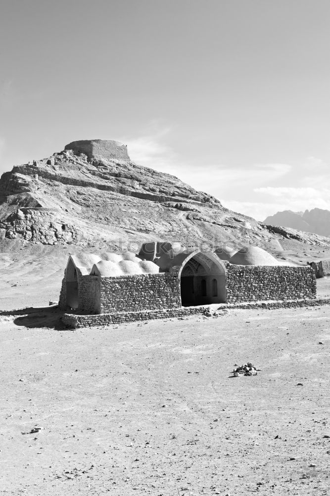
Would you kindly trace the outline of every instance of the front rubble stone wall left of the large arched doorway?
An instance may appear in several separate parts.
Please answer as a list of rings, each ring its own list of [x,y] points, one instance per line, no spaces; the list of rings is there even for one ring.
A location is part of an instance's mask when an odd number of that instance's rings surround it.
[[[100,278],[100,311],[158,310],[181,307],[176,273]]]

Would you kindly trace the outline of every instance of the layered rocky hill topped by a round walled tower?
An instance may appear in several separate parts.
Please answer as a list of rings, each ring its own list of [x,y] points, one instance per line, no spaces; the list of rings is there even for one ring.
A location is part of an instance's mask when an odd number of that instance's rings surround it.
[[[278,238],[291,238],[283,233],[174,176],[137,165],[116,141],[74,141],[0,179],[2,251],[10,244],[136,251],[144,241],[164,240],[278,249]],[[313,243],[329,241],[315,237]]]

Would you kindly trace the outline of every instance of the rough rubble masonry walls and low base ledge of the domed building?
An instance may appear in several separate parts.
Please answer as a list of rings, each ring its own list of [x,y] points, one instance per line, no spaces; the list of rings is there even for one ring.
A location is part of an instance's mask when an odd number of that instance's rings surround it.
[[[224,307],[239,305],[239,308],[249,308],[255,302],[268,308],[281,308],[315,305],[317,302],[316,277],[310,266],[227,264],[226,287],[227,303],[219,304]],[[62,309],[64,301],[65,284],[59,305]],[[103,325],[178,317],[199,313],[205,308],[182,307],[178,268],[170,273],[120,277],[86,275],[79,279],[79,308],[73,314],[65,314],[63,322],[73,326]]]

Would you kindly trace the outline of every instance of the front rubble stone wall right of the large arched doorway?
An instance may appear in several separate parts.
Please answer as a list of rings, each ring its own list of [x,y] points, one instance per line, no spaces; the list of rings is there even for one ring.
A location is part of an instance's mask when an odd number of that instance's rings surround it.
[[[311,267],[229,265],[227,302],[298,300],[316,297]]]

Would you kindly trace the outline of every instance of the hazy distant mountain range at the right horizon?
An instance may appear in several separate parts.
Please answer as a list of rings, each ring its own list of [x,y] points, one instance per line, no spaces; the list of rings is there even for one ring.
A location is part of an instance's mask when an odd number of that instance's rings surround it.
[[[283,212],[270,215],[263,223],[269,226],[289,227],[330,237],[330,211],[321,208],[313,208],[312,210],[305,210],[305,212],[283,210]]]

